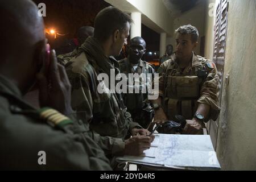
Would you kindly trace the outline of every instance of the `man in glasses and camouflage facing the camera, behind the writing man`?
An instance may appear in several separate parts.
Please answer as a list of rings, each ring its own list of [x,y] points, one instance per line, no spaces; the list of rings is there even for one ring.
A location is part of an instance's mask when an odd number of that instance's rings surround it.
[[[138,122],[142,127],[147,128],[148,124],[153,119],[153,108],[148,101],[148,90],[146,93],[142,93],[143,87],[146,87],[147,84],[151,84],[152,79],[154,79],[155,70],[151,64],[146,61],[142,61],[141,57],[146,52],[146,42],[141,37],[135,37],[131,39],[130,47],[129,47],[129,56],[126,59],[118,61],[120,65],[120,72],[125,73],[127,77],[127,83],[129,84],[129,73],[138,73],[138,75],[148,74],[152,75],[151,80],[146,80],[146,82],[140,82],[139,92],[140,93],[124,93],[123,101],[125,106],[127,107],[127,111],[131,113],[131,118],[133,118],[134,122]],[[148,76],[148,75],[147,75]],[[150,78],[148,76],[148,78]],[[135,90],[135,83],[133,85],[129,85]]]

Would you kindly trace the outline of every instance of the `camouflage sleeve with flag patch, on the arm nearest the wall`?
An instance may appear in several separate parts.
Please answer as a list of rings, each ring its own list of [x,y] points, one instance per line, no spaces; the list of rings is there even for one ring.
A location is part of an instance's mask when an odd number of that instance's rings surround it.
[[[212,61],[207,61],[205,67],[208,70],[208,76],[205,79],[200,90],[200,98],[197,102],[207,104],[210,106],[210,113],[208,119],[216,120],[220,107],[218,106],[218,76],[215,64]]]

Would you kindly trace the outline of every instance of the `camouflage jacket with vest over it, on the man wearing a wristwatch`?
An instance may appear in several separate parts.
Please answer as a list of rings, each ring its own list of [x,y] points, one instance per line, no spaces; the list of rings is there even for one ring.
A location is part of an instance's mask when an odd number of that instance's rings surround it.
[[[182,71],[177,64],[174,53],[171,55],[170,60],[160,65],[158,73],[159,96],[162,96],[163,107],[168,119],[173,119],[174,114],[186,115],[187,119],[191,119],[197,110],[197,105],[200,103],[210,106],[210,114],[207,119],[217,119],[220,111],[218,106],[218,76],[216,66],[212,61],[193,53],[191,64]],[[199,76],[202,74],[205,75],[203,77]],[[195,78],[198,76],[199,79],[196,83],[199,85],[199,89],[196,91],[198,93],[197,96],[194,98],[180,98],[179,92],[189,96],[195,89],[191,89],[189,86],[184,87],[186,84],[191,84],[191,80],[187,80],[187,83],[184,83],[181,78],[179,81],[183,83],[179,83],[175,82],[175,79],[177,80],[175,76],[184,78],[186,76],[190,78],[191,76]],[[183,84],[183,87],[179,87],[180,84]],[[176,96],[170,94],[170,92],[176,92]]]

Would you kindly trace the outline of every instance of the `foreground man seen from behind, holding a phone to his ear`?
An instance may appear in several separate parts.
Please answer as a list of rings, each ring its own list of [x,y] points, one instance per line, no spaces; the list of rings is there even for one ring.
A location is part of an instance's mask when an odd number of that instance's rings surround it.
[[[71,86],[55,51],[48,79],[43,74],[46,38],[38,7],[28,0],[1,1],[0,15],[6,25],[0,30],[0,169],[110,170],[89,128],[82,129],[72,114]],[[48,106],[40,110],[22,98],[37,73],[40,101]]]

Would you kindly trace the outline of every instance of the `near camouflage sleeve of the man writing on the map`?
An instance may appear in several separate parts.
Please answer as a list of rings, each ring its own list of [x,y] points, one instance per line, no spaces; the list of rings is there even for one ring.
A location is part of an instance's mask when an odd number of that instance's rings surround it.
[[[82,122],[89,125],[93,117],[93,98],[90,88],[92,85],[85,75],[73,73],[67,70],[69,80],[72,85],[72,107],[78,113],[83,112]],[[93,140],[104,150],[105,154],[117,154],[125,148],[125,142],[120,138],[102,137],[100,134],[92,131]]]

